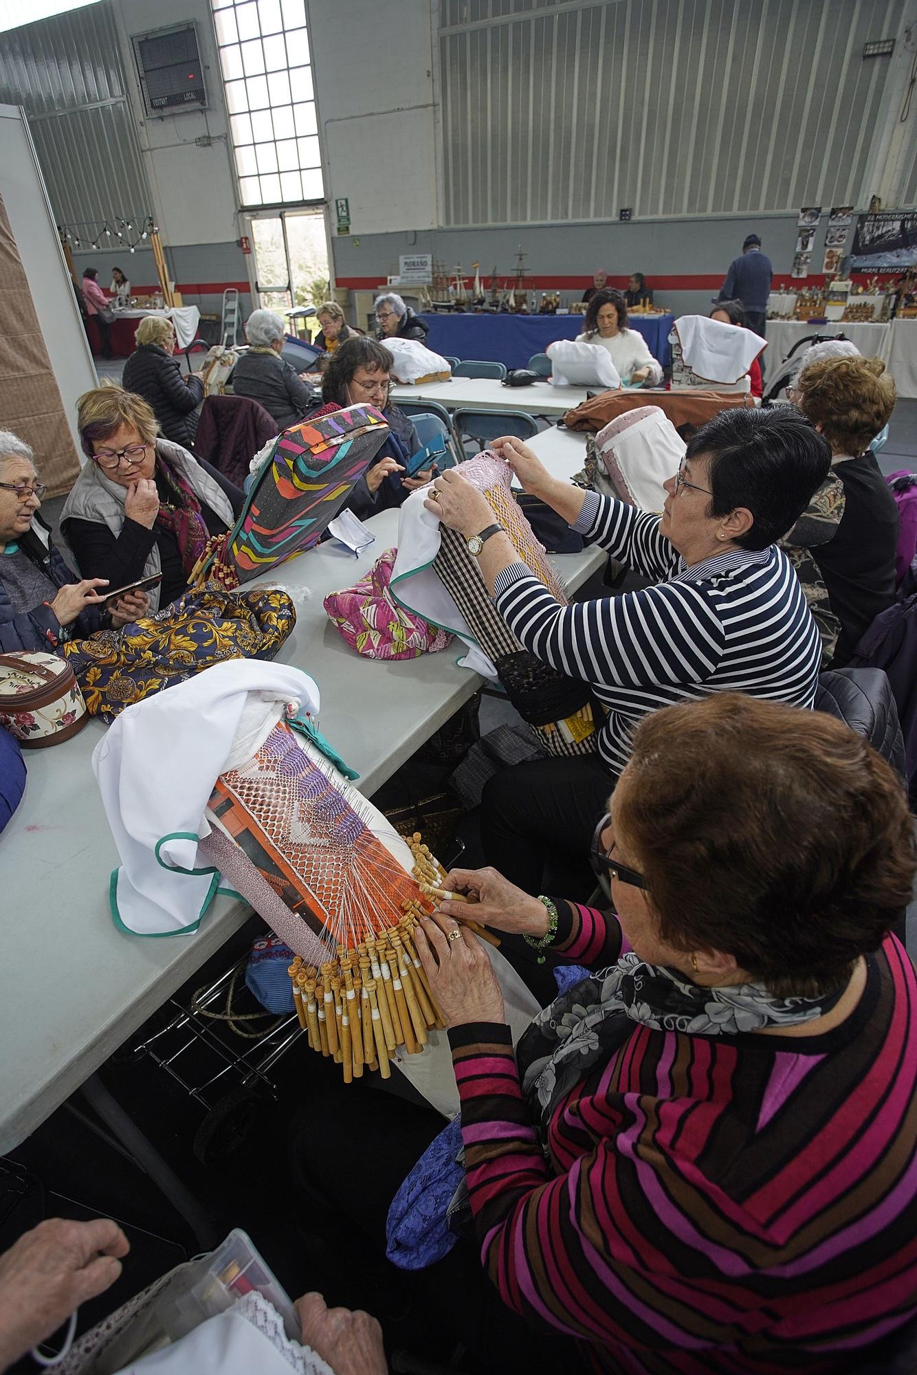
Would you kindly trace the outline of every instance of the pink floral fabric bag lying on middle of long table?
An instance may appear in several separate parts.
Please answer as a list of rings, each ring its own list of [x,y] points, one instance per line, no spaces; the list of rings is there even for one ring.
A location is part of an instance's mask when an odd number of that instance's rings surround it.
[[[445,649],[452,637],[397,606],[389,583],[397,550],[386,549],[355,587],[329,593],[324,609],[351,649],[366,659],[417,659]]]

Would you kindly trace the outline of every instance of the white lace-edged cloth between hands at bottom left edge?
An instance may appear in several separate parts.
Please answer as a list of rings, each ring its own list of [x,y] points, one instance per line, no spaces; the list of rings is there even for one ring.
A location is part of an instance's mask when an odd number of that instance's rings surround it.
[[[334,1375],[312,1348],[291,1342],[283,1319],[257,1290],[209,1317],[180,1342],[125,1365],[118,1375]]]

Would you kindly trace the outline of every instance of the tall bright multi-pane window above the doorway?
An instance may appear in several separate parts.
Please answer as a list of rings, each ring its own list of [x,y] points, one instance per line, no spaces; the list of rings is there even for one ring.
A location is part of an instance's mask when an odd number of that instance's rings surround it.
[[[242,205],[322,201],[305,0],[212,0]]]

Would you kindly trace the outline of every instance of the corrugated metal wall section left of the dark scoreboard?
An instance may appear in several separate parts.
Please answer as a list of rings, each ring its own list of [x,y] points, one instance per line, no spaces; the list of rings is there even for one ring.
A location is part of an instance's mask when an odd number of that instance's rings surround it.
[[[0,102],[25,106],[59,223],[151,213],[109,0],[0,34]]]

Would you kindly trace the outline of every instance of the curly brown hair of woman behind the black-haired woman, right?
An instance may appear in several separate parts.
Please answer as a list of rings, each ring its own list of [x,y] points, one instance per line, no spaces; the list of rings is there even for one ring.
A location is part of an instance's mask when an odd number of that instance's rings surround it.
[[[895,408],[895,384],[880,358],[822,358],[796,378],[799,408],[835,454],[859,458],[888,424]]]

